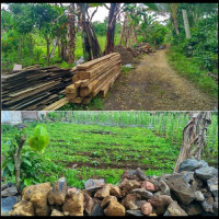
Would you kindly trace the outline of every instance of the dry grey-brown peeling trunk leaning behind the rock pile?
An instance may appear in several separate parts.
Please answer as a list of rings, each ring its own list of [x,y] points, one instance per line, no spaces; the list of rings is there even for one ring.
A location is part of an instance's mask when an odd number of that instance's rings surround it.
[[[188,158],[201,160],[203,150],[206,146],[206,130],[210,123],[210,112],[193,113],[191,120],[183,130],[183,145],[174,172],[177,172],[180,163]]]

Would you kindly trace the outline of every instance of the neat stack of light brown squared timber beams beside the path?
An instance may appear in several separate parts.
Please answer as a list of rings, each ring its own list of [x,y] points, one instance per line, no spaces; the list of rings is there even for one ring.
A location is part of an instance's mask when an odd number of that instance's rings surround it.
[[[105,97],[120,74],[120,55],[113,53],[77,66],[77,73],[72,77],[73,84],[66,88],[68,101],[89,104],[99,93],[101,97]]]

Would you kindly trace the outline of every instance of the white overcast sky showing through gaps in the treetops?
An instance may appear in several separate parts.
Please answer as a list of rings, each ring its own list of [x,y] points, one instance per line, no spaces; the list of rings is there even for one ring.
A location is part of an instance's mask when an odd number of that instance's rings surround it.
[[[68,5],[69,3],[64,3]],[[110,3],[106,3],[110,7]],[[7,9],[8,5],[5,3],[1,3],[1,9],[4,8]],[[89,12],[92,14],[92,12],[95,10],[95,8],[90,8]],[[104,19],[108,16],[108,10],[105,7],[99,7],[97,12],[94,14],[92,21],[100,21],[103,22]],[[162,22],[164,20],[169,19],[169,16],[162,16],[162,15],[157,15],[157,21]]]

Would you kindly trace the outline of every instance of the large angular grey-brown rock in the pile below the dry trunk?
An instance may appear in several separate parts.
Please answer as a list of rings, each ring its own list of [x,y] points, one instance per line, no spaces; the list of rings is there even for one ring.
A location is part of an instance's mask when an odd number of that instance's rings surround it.
[[[183,175],[172,175],[166,184],[181,204],[189,205],[195,199],[195,194]]]

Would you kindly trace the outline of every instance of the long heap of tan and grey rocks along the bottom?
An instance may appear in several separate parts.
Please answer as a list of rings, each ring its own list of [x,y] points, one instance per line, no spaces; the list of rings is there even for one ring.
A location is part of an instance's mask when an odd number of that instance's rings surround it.
[[[125,171],[118,185],[90,178],[84,189],[62,177],[27,186],[11,216],[197,216],[218,215],[218,170],[187,159],[178,173],[146,176]]]

